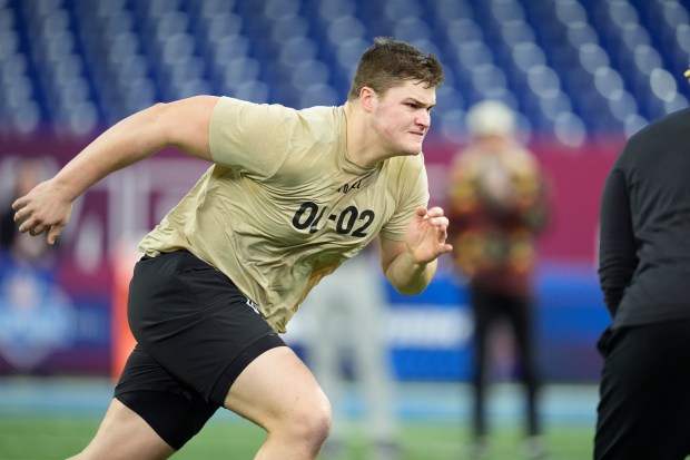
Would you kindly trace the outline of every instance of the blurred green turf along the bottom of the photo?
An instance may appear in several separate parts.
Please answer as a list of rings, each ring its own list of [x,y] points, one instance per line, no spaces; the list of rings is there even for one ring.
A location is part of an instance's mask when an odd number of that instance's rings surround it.
[[[98,420],[89,418],[18,418],[0,420],[2,460],[65,459],[78,452],[93,434]],[[263,431],[244,421],[213,421],[175,459],[252,459]],[[585,428],[552,427],[546,435],[553,460],[591,458],[592,432]],[[445,423],[403,424],[405,460],[460,460],[466,458],[465,430]],[[490,439],[490,459],[522,459],[519,432],[500,428]],[[354,430],[347,459],[371,460],[364,437]],[[327,459],[325,459],[327,460]]]

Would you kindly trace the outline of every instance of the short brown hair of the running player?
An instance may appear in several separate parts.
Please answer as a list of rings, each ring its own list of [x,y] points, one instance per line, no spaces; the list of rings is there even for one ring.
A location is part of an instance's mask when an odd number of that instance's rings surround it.
[[[359,58],[347,99],[357,99],[365,86],[383,96],[406,80],[437,88],[443,82],[443,67],[434,55],[424,53],[404,41],[376,37],[374,45]]]

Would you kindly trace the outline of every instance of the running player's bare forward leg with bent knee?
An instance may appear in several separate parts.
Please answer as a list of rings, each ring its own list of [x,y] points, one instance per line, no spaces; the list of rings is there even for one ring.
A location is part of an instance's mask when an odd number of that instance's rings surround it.
[[[245,368],[225,399],[227,409],[268,432],[255,460],[313,460],[331,428],[331,404],[306,365],[287,346]]]

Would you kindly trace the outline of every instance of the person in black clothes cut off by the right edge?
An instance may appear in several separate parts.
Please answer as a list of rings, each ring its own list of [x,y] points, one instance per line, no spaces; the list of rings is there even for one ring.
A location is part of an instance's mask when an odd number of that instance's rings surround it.
[[[604,185],[597,460],[690,456],[689,128],[690,109],[642,128]]]

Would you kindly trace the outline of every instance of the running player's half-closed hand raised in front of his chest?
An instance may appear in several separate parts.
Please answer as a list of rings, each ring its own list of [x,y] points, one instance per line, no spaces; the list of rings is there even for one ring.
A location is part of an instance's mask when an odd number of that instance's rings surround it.
[[[427,264],[453,251],[453,246],[445,242],[447,228],[448,218],[443,215],[443,208],[420,206],[415,209],[405,234],[405,244],[415,263]]]

